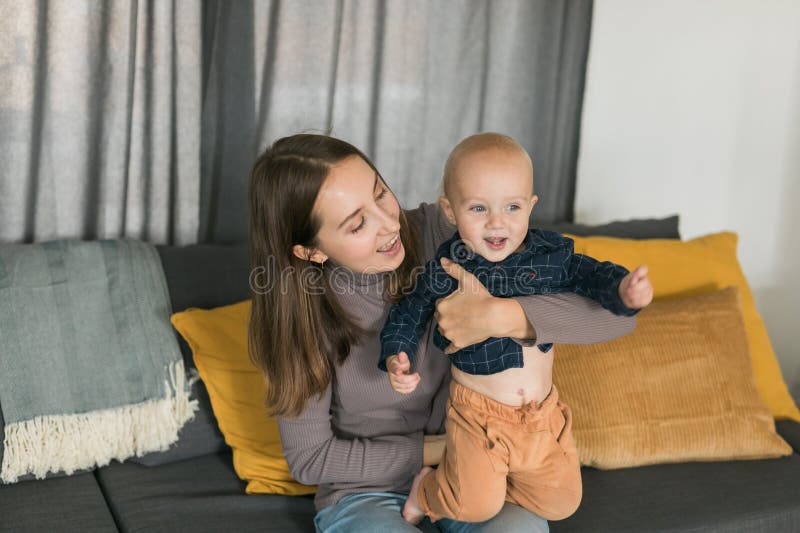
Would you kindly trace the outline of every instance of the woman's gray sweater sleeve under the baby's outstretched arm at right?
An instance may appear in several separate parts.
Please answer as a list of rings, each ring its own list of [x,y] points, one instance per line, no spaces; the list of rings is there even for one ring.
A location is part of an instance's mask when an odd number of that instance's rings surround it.
[[[515,339],[523,346],[606,342],[627,335],[636,327],[635,317],[615,315],[594,300],[571,292],[514,299],[536,331],[535,339]]]

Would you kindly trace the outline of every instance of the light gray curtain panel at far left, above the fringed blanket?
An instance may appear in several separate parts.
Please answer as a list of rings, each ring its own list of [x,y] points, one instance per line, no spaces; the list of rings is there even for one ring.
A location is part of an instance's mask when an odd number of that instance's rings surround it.
[[[197,240],[201,5],[0,0],[0,242]]]

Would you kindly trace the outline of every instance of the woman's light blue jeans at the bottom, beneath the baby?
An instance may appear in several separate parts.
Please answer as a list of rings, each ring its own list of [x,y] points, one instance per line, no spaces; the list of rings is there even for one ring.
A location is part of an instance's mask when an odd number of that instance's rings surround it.
[[[425,518],[419,528],[403,519],[400,512],[406,503],[405,494],[394,492],[362,492],[348,494],[335,505],[322,509],[314,518],[318,533],[415,532],[445,533],[515,533],[549,531],[547,520],[518,505],[506,502],[500,512],[486,522],[459,522],[442,518],[435,524]]]

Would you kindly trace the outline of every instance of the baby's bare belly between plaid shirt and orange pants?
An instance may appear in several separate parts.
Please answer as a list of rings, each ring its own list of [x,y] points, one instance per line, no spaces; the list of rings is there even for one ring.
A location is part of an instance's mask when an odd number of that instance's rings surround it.
[[[451,366],[453,379],[476,392],[498,402],[520,406],[541,402],[550,393],[553,384],[553,353],[542,353],[536,346],[522,348],[524,365],[509,368],[497,374],[479,376],[462,372]]]

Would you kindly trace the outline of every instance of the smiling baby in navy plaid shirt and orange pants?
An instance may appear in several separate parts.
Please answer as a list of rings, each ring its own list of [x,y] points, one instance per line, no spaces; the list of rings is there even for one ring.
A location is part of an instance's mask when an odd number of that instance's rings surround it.
[[[436,300],[458,288],[440,261],[459,263],[497,297],[571,291],[621,315],[650,303],[645,266],[629,273],[575,254],[572,239],[529,230],[537,200],[530,157],[512,138],[483,133],[453,149],[439,204],[458,231],[426,264],[413,292],[392,307],[381,333],[379,367],[396,391],[416,387],[419,375],[410,369],[419,337]],[[438,329],[434,342],[442,349],[450,344]],[[551,347],[489,338],[451,354],[445,452],[436,470],[423,468],[414,478],[406,520],[482,522],[506,501],[547,520],[578,508],[572,416],[552,383]]]

